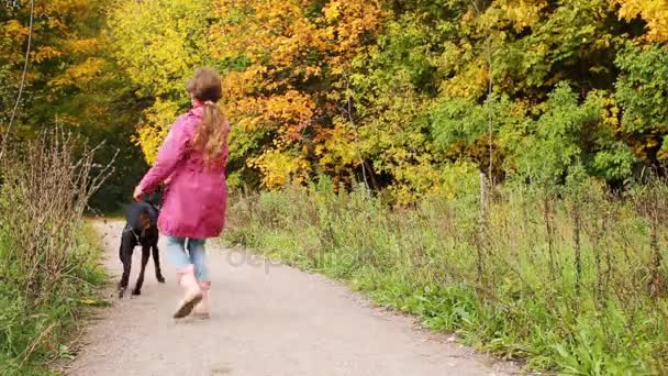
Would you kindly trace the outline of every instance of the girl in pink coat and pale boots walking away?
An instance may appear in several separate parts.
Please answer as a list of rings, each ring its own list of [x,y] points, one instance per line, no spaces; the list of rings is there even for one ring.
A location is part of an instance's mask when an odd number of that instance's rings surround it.
[[[191,312],[203,318],[210,314],[204,241],[222,232],[227,203],[230,123],[216,107],[222,97],[221,76],[209,68],[198,69],[187,89],[192,109],[174,123],[154,166],[133,195],[140,200],[160,183],[168,183],[158,228],[166,235],[167,259],[176,265],[183,289],[176,319]]]

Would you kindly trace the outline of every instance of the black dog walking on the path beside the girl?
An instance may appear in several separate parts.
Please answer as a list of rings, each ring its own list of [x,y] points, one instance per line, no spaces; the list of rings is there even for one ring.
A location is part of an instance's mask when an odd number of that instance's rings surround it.
[[[160,272],[160,256],[158,251],[158,228],[157,218],[159,209],[149,202],[133,202],[127,207],[126,224],[123,229],[121,237],[121,248],[119,257],[123,263],[123,275],[119,283],[119,298],[123,298],[123,294],[127,288],[130,279],[130,267],[132,266],[132,253],[137,245],[142,246],[142,270],[137,277],[137,283],[132,290],[132,295],[142,294],[142,285],[144,284],[144,270],[153,251],[153,262],[155,264],[155,277],[160,284],[165,283],[165,277]]]

